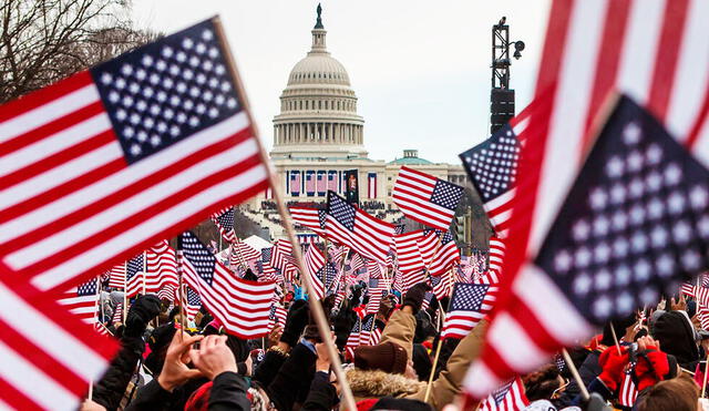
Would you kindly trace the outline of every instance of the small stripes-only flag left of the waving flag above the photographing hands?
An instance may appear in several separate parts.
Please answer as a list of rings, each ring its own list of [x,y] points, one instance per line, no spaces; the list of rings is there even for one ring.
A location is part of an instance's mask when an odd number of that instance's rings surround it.
[[[148,294],[156,294],[161,299],[176,301],[179,284],[177,277],[177,259],[175,250],[162,240],[145,250],[147,274],[145,277]]]

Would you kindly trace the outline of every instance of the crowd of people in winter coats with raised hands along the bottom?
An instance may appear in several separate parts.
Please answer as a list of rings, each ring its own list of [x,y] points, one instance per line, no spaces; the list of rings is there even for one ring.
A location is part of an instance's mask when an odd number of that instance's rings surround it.
[[[429,289],[422,282],[403,296],[384,298],[376,314],[381,340],[351,351],[346,346],[367,301],[363,284],[351,289],[341,307],[335,306],[335,296],[321,301],[325,312],[331,314],[331,339],[341,353],[358,410],[474,410],[480,405],[465,398],[461,387],[483,348],[487,319],[460,340],[443,340],[436,359],[438,317],[443,315],[438,308],[448,301],[424,306]],[[119,299],[110,296],[103,304],[111,306]],[[242,340],[225,335],[204,309],[186,323],[179,307],[167,312],[156,296],[138,296],[125,323],[110,327],[122,349],[83,409],[345,409],[311,302],[302,292],[289,292],[284,304],[288,314],[282,328],[276,325],[264,338]],[[518,409],[701,410],[709,333],[701,330],[696,310],[695,301],[681,297],[607,323],[603,333],[569,349],[574,367],[557,358],[521,376],[526,408]],[[589,399],[574,379],[573,368],[578,369]],[[621,398],[628,391],[627,381],[637,390],[633,405]]]

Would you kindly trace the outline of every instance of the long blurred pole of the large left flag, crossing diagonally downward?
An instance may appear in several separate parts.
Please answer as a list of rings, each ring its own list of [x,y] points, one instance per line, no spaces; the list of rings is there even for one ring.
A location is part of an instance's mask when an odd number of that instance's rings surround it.
[[[280,192],[280,183],[278,182],[278,178],[276,177],[276,173],[273,169],[273,165],[270,162],[270,158],[268,156],[268,153],[266,153],[266,150],[264,150],[264,146],[260,142],[260,137],[258,135],[258,130],[256,127],[256,123],[254,122],[254,119],[251,116],[250,110],[249,110],[249,105],[248,105],[248,100],[246,97],[246,92],[244,90],[244,85],[242,84],[242,80],[238,75],[238,71],[236,69],[236,64],[235,64],[235,60],[234,56],[232,55],[232,51],[228,47],[227,40],[226,40],[226,35],[224,33],[224,28],[222,27],[222,21],[219,20],[219,18],[214,18],[212,20],[214,22],[214,27],[216,30],[216,34],[217,38],[219,39],[219,41],[222,42],[224,52],[225,52],[225,60],[226,60],[226,64],[229,69],[229,72],[232,74],[232,80],[234,81],[239,95],[242,97],[242,105],[245,109],[244,111],[246,112],[246,115],[248,116],[249,120],[249,124],[250,124],[250,129],[254,133],[254,140],[256,141],[256,144],[258,145],[259,148],[259,153],[260,153],[260,157],[261,157],[261,162],[264,164],[264,166],[266,167],[266,171],[268,173],[268,179],[269,179],[269,185],[271,187],[271,192],[274,194],[274,199],[276,201],[276,204],[278,205],[278,213],[280,214],[280,218],[284,223],[284,227],[286,228],[286,233],[288,235],[288,239],[290,240],[290,244],[297,245],[298,244],[298,239],[296,237],[296,233],[292,228],[292,223],[290,222],[290,214],[288,214],[288,210],[286,208],[286,205],[284,203],[282,196],[281,196],[281,192]],[[315,292],[312,292],[312,279],[310,278],[310,274],[308,273],[308,270],[306,269],[306,265],[304,263],[302,259],[302,250],[300,249],[300,247],[292,247],[292,254],[294,257],[296,258],[296,263],[298,265],[298,269],[300,270],[301,274],[301,278],[305,280],[305,286],[307,291],[314,296]],[[357,404],[354,402],[354,397],[352,395],[352,391],[350,390],[350,386],[347,381],[347,377],[345,376],[345,371],[342,370],[342,364],[340,362],[340,357],[339,353],[337,351],[337,348],[335,347],[335,343],[332,342],[332,335],[330,331],[330,327],[328,326],[328,321],[327,318],[325,316],[325,312],[322,310],[322,306],[320,305],[320,301],[311,298],[310,300],[310,311],[312,312],[316,323],[318,326],[318,330],[320,331],[320,337],[322,338],[322,342],[325,342],[327,349],[328,349],[328,355],[330,357],[330,361],[332,362],[332,368],[335,369],[335,373],[337,374],[337,379],[338,382],[340,384],[341,391],[343,393],[345,397],[345,405],[350,409],[350,411],[356,411],[357,410]]]

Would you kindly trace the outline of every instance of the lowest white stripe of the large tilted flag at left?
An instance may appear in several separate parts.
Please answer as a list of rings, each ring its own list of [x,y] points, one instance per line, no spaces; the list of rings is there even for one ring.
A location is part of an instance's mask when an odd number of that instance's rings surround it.
[[[193,197],[153,216],[133,228],[114,236],[107,242],[83,253],[53,268],[37,275],[32,284],[41,290],[50,289],[73,276],[73,273],[85,271],[97,261],[109,256],[123,253],[133,245],[144,242],[153,235],[162,232],[164,227],[171,227],[181,220],[183,215],[192,215],[207,206],[230,197],[234,192],[246,191],[267,178],[267,171],[263,164],[258,164],[240,174],[214,185],[208,189],[196,193]]]

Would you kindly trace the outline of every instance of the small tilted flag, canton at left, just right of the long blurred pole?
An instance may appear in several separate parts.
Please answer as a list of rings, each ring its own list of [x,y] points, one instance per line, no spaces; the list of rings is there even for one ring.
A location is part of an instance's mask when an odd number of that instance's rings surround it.
[[[345,198],[328,192],[326,233],[329,238],[351,247],[363,257],[387,264],[394,226],[374,218]]]

